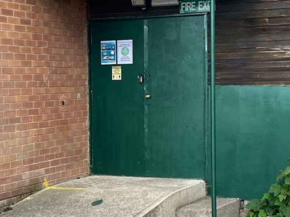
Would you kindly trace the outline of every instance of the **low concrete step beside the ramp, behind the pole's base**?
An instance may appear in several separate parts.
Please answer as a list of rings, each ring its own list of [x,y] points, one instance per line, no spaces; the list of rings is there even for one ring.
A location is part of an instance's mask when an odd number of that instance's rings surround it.
[[[239,199],[217,198],[217,217],[239,217]],[[211,217],[211,198],[205,197],[176,211],[176,217]]]

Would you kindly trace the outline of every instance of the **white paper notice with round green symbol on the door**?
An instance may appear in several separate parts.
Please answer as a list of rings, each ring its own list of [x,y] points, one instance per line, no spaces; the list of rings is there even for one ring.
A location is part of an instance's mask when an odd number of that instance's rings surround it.
[[[119,40],[118,64],[133,64],[133,40]]]

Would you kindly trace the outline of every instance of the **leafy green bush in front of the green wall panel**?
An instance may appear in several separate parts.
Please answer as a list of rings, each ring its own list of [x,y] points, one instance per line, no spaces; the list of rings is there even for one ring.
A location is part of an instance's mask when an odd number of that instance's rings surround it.
[[[290,166],[279,172],[262,199],[253,199],[246,208],[250,210],[247,217],[290,217]]]

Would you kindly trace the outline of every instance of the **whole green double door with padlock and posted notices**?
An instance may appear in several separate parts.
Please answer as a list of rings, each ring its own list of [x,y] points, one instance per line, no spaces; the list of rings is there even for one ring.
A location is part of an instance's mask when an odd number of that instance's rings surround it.
[[[204,16],[93,23],[94,174],[204,178],[204,34]],[[123,39],[133,40],[133,64],[117,64],[114,81],[100,42]]]

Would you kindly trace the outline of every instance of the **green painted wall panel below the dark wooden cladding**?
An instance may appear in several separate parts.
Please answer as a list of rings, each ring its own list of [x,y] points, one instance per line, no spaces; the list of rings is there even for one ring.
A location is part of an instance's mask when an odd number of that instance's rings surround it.
[[[290,87],[217,87],[217,193],[262,197],[290,156]]]

